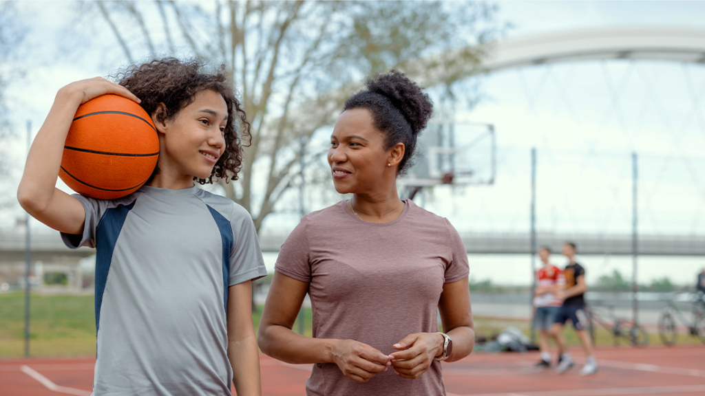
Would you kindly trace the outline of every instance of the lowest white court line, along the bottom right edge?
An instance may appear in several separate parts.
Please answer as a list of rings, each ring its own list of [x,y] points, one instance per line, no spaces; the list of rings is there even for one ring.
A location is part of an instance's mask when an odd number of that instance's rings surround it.
[[[607,396],[607,395],[656,395],[658,393],[705,392],[705,385],[640,386],[634,388],[601,388],[574,390],[539,390],[515,393],[446,393],[448,396]]]

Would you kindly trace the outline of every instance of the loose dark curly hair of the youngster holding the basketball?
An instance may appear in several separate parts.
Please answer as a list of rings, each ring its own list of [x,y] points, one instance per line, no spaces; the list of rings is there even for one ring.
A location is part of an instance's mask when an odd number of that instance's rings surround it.
[[[210,89],[221,94],[228,106],[228,125],[225,128],[225,151],[213,167],[207,179],[194,178],[200,184],[212,183],[213,177],[226,181],[238,180],[238,172],[243,167],[243,137],[250,137],[250,123],[240,101],[235,98],[233,87],[228,84],[224,73],[225,66],[204,72],[204,63],[197,59],[180,61],[177,58],[155,59],[154,61],[126,68],[116,75],[118,84],[129,89],[142,100],[140,106],[150,116],[160,103],[166,111],[157,115],[159,121],[169,120],[188,106],[198,92]],[[239,125],[238,125],[239,121]],[[238,133],[239,130],[239,133]],[[155,169],[152,177],[159,173]]]

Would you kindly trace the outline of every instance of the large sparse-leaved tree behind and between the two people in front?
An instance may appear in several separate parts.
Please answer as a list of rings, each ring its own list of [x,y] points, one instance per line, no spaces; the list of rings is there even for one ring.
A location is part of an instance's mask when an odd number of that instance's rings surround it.
[[[84,0],[125,58],[184,51],[226,65],[252,123],[240,180],[219,182],[257,230],[296,181],[298,141],[335,120],[369,73],[422,85],[477,73],[502,27],[475,0]],[[94,14],[95,15],[95,14]],[[264,180],[264,182],[259,182]]]

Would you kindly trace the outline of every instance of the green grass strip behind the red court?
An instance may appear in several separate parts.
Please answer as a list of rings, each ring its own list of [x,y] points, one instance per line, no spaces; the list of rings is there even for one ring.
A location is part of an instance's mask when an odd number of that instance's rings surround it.
[[[92,295],[32,295],[30,324],[30,355],[33,357],[85,356],[95,354],[94,299]],[[252,313],[255,331],[262,316],[262,307]],[[0,294],[0,358],[22,357],[24,354],[24,295],[21,292]],[[304,309],[304,334],[310,337],[311,309]],[[490,338],[508,326],[529,334],[527,321],[475,318],[475,333]],[[298,331],[298,320],[294,330]],[[575,331],[565,329],[569,345],[580,345]],[[678,345],[701,344],[698,338],[681,333]],[[603,328],[596,332],[596,345],[612,346],[611,333]],[[625,345],[625,342],[622,342]],[[658,333],[649,335],[649,345],[662,345]]]

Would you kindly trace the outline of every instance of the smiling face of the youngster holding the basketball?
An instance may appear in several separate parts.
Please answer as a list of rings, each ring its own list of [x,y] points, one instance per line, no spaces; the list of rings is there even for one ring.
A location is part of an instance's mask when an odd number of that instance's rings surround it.
[[[159,170],[174,178],[206,179],[223,151],[228,106],[217,92],[195,94],[191,104],[159,128]]]

